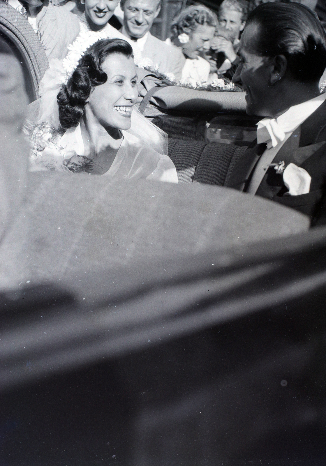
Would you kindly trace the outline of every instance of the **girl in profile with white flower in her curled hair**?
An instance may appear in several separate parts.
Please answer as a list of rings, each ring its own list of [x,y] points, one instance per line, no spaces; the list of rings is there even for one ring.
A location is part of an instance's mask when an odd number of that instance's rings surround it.
[[[174,18],[171,41],[186,57],[181,82],[196,86],[208,81],[210,65],[199,54],[209,50],[216,26],[215,13],[201,5],[187,7]]]

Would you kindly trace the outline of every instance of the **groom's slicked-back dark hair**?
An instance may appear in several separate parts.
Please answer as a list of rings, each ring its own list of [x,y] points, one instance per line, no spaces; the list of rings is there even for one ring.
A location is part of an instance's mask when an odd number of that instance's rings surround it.
[[[263,3],[246,21],[257,25],[254,43],[259,55],[284,55],[292,76],[318,81],[326,68],[326,34],[316,13],[300,3]]]

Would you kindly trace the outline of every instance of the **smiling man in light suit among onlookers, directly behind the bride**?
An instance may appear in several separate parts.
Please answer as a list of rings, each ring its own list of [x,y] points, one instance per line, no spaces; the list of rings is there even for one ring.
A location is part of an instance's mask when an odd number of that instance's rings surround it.
[[[182,52],[150,33],[153,21],[160,13],[161,1],[121,0],[120,6],[124,12],[122,34],[137,41],[143,58],[149,58],[161,73],[173,73],[176,79],[180,79],[185,63]]]

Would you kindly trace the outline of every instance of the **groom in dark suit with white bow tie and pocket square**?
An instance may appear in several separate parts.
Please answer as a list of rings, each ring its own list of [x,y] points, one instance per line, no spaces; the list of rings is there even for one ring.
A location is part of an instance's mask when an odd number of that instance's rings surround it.
[[[257,139],[232,161],[226,185],[293,207],[326,223],[326,34],[298,3],[264,3],[249,16],[233,82]]]

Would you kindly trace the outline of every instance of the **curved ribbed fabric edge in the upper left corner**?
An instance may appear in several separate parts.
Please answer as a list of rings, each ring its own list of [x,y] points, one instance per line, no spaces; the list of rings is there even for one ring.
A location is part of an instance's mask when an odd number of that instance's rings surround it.
[[[49,68],[48,58],[28,21],[6,1],[0,0],[0,36],[21,62],[30,102],[39,98],[39,84]]]

